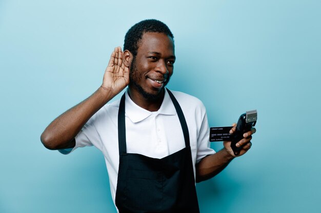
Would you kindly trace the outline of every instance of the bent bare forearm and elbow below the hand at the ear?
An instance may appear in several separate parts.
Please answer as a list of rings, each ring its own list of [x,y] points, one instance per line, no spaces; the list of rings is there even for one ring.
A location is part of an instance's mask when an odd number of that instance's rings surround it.
[[[44,146],[51,150],[74,147],[77,133],[114,96],[109,90],[99,87],[88,99],[59,115],[41,135]]]

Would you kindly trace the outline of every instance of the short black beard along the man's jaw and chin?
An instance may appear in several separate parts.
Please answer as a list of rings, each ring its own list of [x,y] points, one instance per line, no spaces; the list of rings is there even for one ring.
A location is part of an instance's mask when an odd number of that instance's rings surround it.
[[[162,92],[157,94],[147,92],[141,85],[137,83],[139,80],[139,73],[136,66],[136,57],[133,57],[129,70],[129,84],[132,85],[140,94],[142,94],[145,99],[153,101],[159,99],[159,97],[162,97],[164,94],[164,87],[168,84],[170,77],[168,76],[166,79],[167,80],[163,82],[164,85]]]

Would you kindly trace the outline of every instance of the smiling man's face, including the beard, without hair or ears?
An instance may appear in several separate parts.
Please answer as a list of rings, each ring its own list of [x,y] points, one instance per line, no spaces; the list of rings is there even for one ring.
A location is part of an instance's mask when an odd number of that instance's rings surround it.
[[[157,99],[173,74],[173,39],[164,33],[145,33],[130,66],[132,92],[145,99]]]

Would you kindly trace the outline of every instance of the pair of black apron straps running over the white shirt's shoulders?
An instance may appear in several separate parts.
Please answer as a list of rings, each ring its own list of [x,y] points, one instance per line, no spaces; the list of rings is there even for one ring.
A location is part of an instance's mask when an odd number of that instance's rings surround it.
[[[180,108],[177,100],[175,99],[173,93],[166,88],[169,97],[171,98],[174,107],[177,112],[177,116],[180,122],[180,126],[182,126],[183,135],[185,139],[185,146],[187,148],[190,147],[190,138],[189,138],[189,131],[187,127],[187,123],[185,120],[184,113],[182,111],[182,108]],[[126,93],[126,92],[125,92]],[[119,103],[119,110],[118,110],[118,147],[119,147],[119,155],[126,155],[127,149],[126,149],[126,125],[125,125],[125,93],[123,94],[121,98],[121,102]]]

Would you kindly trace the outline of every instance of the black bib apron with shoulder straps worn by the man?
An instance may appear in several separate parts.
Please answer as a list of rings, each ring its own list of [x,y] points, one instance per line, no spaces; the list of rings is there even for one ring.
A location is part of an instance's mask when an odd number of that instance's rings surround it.
[[[127,153],[125,94],[122,96],[118,110],[119,169],[115,197],[119,213],[199,213],[188,127],[178,102],[167,91],[186,147],[161,159]]]

